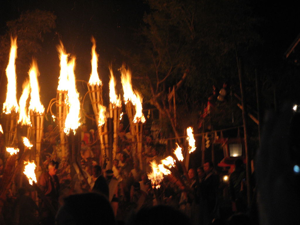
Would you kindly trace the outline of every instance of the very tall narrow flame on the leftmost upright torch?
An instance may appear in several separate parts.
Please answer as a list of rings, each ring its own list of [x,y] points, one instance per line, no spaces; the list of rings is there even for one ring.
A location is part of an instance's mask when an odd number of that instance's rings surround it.
[[[7,91],[6,100],[3,103],[3,113],[10,114],[12,111],[16,113],[19,110],[19,106],[16,99],[16,65],[15,60],[17,57],[17,38],[10,37],[11,47],[9,54],[9,61],[6,67],[7,76]]]

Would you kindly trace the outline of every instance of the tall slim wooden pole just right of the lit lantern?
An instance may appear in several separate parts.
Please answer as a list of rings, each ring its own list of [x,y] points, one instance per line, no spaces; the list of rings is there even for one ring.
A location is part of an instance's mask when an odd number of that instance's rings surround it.
[[[245,153],[246,153],[246,182],[247,182],[247,201],[248,207],[250,207],[251,199],[252,199],[252,186],[251,186],[251,160],[250,160],[250,152],[248,149],[248,136],[247,136],[247,105],[244,97],[244,83],[243,83],[243,64],[240,58],[237,56],[238,62],[238,78],[240,81],[240,89],[241,89],[241,100],[242,100],[242,116],[243,116],[243,124],[244,124],[244,141],[245,141]]]

